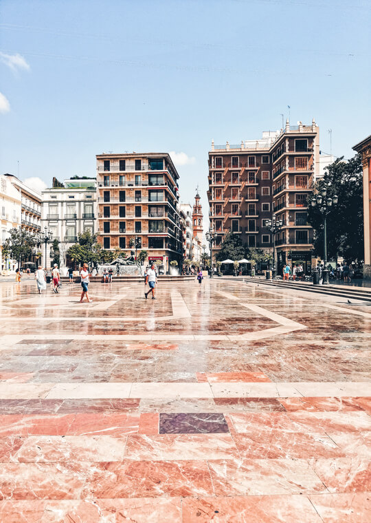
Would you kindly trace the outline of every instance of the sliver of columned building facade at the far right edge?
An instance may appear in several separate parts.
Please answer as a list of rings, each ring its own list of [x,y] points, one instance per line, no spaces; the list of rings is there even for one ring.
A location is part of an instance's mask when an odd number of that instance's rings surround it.
[[[363,277],[371,279],[371,135],[353,147],[362,157],[363,168],[363,231],[365,259]]]

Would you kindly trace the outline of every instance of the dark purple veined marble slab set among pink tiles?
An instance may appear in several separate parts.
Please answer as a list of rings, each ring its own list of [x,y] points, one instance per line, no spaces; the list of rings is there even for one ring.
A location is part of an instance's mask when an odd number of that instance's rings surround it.
[[[159,415],[159,434],[216,434],[229,432],[223,414],[166,414]]]

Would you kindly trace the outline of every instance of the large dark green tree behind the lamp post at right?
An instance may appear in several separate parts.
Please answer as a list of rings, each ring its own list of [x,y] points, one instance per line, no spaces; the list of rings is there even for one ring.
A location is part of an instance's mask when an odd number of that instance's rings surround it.
[[[330,164],[308,197],[308,222],[315,229],[315,254],[324,256],[324,220],[318,206],[311,200],[326,189],[328,197],[338,196],[338,202],[327,214],[328,258],[342,256],[348,261],[363,261],[363,176],[361,156],[347,162],[344,157]]]

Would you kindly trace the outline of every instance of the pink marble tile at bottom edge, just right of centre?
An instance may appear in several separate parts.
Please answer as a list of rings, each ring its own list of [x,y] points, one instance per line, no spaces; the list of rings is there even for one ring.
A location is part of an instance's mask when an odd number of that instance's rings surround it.
[[[302,495],[184,498],[183,523],[322,523]]]

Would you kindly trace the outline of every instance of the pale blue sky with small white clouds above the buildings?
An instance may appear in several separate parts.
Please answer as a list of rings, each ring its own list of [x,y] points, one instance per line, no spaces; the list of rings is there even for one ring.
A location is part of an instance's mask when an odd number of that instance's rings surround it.
[[[49,185],[96,153],[175,151],[207,214],[212,138],[259,138],[287,105],[348,158],[371,131],[370,21],[370,0],[1,0],[0,172]]]

